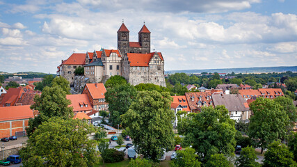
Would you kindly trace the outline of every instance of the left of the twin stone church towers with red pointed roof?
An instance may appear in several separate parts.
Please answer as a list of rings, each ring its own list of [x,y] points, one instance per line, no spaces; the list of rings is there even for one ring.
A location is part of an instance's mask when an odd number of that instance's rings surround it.
[[[120,50],[122,55],[125,55],[129,51],[129,30],[124,22],[118,30],[118,50]]]

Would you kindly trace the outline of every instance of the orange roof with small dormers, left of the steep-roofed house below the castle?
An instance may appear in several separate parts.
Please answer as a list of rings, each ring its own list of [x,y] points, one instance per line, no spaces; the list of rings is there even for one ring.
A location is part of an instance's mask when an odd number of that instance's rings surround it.
[[[71,101],[69,106],[73,107],[74,112],[93,110],[86,94],[66,95],[66,99]]]

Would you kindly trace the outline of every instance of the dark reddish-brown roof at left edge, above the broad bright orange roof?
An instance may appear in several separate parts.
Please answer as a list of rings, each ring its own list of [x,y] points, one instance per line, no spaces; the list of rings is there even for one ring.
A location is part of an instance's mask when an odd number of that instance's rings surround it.
[[[10,106],[15,105],[15,102],[17,102],[17,99],[21,97],[23,92],[22,88],[9,88],[1,100],[0,106],[6,106],[6,104],[10,104]]]

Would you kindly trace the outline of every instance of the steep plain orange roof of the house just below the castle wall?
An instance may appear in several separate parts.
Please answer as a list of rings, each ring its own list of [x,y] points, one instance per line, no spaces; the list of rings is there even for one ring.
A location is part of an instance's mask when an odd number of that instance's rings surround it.
[[[106,88],[102,83],[95,83],[95,84],[86,84],[90,95],[93,99],[105,99],[104,93],[106,93]]]

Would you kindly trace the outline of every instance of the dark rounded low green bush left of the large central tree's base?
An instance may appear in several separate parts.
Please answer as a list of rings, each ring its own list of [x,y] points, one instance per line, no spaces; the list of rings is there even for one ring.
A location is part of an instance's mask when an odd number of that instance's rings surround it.
[[[102,158],[106,163],[113,163],[124,160],[124,152],[119,152],[115,149],[106,149],[102,154]]]

